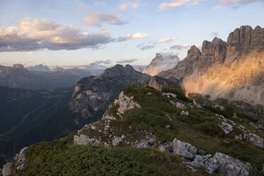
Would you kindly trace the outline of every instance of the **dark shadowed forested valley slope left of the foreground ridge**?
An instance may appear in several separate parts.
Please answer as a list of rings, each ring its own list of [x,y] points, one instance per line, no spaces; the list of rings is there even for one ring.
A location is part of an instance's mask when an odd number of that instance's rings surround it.
[[[67,109],[73,87],[33,91],[0,87],[0,165],[25,145],[67,136],[85,123]]]

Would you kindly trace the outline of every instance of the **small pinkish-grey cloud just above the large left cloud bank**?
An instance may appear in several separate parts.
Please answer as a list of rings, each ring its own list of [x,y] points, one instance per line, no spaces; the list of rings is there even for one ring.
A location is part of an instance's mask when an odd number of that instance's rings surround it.
[[[83,18],[84,26],[101,26],[102,23],[109,23],[112,25],[123,25],[126,22],[121,21],[121,16],[116,16],[109,13],[90,13]]]

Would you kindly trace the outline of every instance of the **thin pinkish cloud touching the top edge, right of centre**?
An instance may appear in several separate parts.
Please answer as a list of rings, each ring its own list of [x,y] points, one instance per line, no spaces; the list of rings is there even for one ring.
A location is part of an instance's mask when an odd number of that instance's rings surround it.
[[[158,6],[158,11],[164,11],[166,9],[177,9],[182,6],[193,6],[200,4],[203,1],[207,0],[174,0],[171,1],[170,3],[164,2]]]

